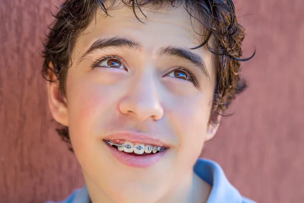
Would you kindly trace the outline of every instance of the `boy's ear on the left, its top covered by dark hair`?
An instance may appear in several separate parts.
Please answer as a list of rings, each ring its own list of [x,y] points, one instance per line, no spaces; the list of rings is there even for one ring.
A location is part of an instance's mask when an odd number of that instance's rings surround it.
[[[49,66],[54,70],[52,62]],[[52,116],[58,123],[68,126],[67,100],[60,94],[59,81],[51,70],[49,70],[49,79],[54,81],[47,82],[49,108]]]

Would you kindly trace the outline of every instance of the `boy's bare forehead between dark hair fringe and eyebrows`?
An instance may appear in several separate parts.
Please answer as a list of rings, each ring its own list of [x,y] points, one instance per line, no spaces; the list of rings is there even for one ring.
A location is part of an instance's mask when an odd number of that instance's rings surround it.
[[[126,37],[138,42],[147,51],[168,45],[193,48],[202,43],[183,7],[144,8],[143,13],[147,18],[140,11],[136,11],[144,23],[126,6],[108,10],[109,16],[98,9],[96,18],[93,18],[84,31],[85,35],[81,35],[77,40],[77,47],[88,49],[94,41],[103,37]],[[200,27],[195,29],[199,31]]]

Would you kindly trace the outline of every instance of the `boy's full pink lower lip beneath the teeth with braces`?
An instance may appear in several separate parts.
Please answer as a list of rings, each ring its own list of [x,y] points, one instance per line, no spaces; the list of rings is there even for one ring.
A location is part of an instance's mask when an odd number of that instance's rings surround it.
[[[151,154],[147,156],[133,156],[129,155],[124,151],[119,151],[118,149],[105,143],[107,148],[110,150],[111,154],[119,160],[121,163],[137,168],[146,168],[157,163],[166,153],[167,150],[158,152],[156,154]]]

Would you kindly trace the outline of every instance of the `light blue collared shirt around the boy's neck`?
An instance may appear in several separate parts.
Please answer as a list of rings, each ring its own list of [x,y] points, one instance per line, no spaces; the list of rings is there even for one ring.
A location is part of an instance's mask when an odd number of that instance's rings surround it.
[[[246,197],[227,180],[219,164],[208,159],[198,159],[194,172],[204,181],[212,185],[207,203],[256,203]],[[53,203],[48,201],[46,203]],[[87,187],[75,190],[60,203],[90,203]]]

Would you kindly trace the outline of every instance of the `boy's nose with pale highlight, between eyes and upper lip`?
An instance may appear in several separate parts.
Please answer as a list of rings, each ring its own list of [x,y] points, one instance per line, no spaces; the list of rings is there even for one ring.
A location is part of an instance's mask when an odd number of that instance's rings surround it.
[[[123,114],[133,114],[139,121],[161,119],[164,109],[153,78],[143,76],[134,82],[120,101],[119,109]]]

